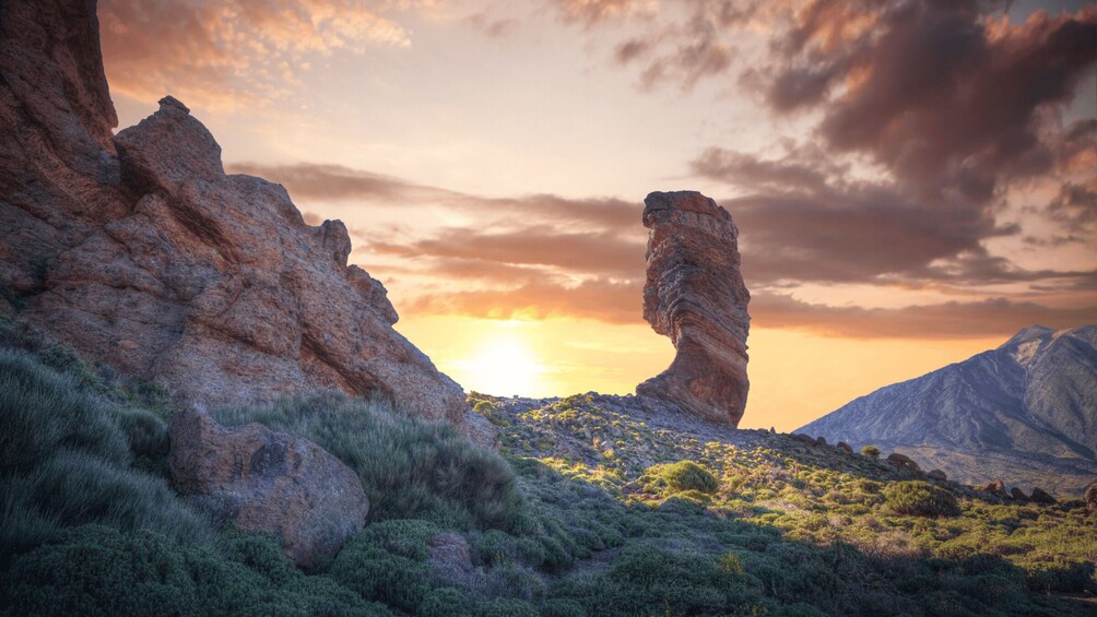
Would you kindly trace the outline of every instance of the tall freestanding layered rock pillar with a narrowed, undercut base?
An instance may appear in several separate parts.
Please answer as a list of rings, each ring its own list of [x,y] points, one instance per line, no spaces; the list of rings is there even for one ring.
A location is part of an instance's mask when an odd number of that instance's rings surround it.
[[[644,319],[670,338],[677,354],[636,393],[736,426],[750,387],[750,294],[739,272],[739,231],[727,210],[693,191],[649,194],[644,227]]]

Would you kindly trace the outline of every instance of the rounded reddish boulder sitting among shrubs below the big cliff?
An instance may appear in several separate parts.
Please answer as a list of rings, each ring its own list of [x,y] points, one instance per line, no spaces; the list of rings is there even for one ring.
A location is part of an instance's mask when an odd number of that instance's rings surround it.
[[[241,529],[281,535],[297,565],[333,557],[365,525],[358,475],[308,439],[256,423],[225,429],[193,408],[171,416],[169,437],[176,491],[203,498]]]

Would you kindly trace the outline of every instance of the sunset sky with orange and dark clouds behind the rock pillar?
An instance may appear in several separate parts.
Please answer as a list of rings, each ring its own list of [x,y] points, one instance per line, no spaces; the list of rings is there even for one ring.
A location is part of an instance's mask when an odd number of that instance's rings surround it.
[[[1097,4],[100,0],[120,126],[172,94],[230,173],[343,220],[466,390],[630,393],[652,191],[739,228],[740,426],[791,431],[1041,323],[1097,323]]]

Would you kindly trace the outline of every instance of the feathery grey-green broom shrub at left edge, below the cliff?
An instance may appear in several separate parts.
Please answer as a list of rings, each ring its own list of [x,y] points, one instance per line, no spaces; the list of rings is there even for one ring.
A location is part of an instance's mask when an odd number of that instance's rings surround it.
[[[122,413],[26,352],[0,351],[0,563],[86,523],[212,538],[161,478],[131,468]]]

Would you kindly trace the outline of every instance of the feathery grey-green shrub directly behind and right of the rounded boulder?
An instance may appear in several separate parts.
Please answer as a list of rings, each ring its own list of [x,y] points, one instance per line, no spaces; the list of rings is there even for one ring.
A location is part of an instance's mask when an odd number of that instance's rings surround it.
[[[319,391],[215,415],[228,426],[259,422],[315,442],[358,472],[373,521],[507,528],[524,507],[507,461],[452,424],[399,414],[380,399]]]

